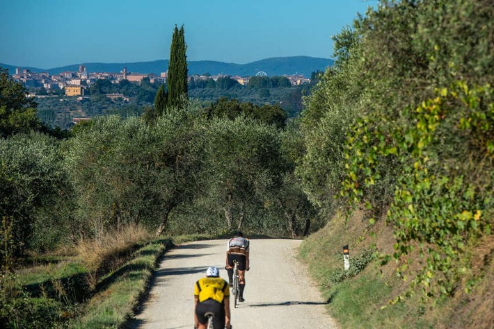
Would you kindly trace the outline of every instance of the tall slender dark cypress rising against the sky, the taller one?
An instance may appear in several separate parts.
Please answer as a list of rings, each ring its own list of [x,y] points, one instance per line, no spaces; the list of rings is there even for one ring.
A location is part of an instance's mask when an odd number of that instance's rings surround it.
[[[188,96],[187,90],[187,58],[184,37],[184,26],[180,30],[175,25],[172,44],[170,47],[170,62],[168,62],[168,97],[166,107],[182,106],[182,96]]]

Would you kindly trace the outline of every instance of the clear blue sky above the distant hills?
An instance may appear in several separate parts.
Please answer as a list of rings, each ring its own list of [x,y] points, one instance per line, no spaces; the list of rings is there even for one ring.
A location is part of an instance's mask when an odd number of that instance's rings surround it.
[[[331,36],[375,0],[0,0],[0,62],[51,69],[168,59],[175,24],[188,60],[332,58]]]

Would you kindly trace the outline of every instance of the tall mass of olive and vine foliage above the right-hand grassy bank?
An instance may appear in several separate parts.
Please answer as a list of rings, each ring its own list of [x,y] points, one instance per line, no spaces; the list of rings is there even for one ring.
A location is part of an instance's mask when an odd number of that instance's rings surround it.
[[[387,214],[398,273],[424,296],[454,293],[491,235],[493,14],[483,0],[381,1],[335,37],[336,66],[305,99],[310,200]],[[408,273],[414,247],[424,261]]]

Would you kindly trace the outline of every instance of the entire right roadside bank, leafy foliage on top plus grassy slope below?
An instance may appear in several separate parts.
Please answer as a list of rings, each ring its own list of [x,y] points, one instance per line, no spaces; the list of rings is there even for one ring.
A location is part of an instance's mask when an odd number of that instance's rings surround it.
[[[296,172],[329,221],[303,254],[344,327],[494,324],[493,19],[490,1],[381,1],[335,37]]]

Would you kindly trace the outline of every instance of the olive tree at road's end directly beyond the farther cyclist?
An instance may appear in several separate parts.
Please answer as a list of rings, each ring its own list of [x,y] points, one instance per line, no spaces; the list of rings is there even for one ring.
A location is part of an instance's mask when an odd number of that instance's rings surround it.
[[[208,125],[202,204],[223,212],[228,228],[242,227],[262,207],[276,183],[278,147],[276,129],[251,119],[216,119]]]

